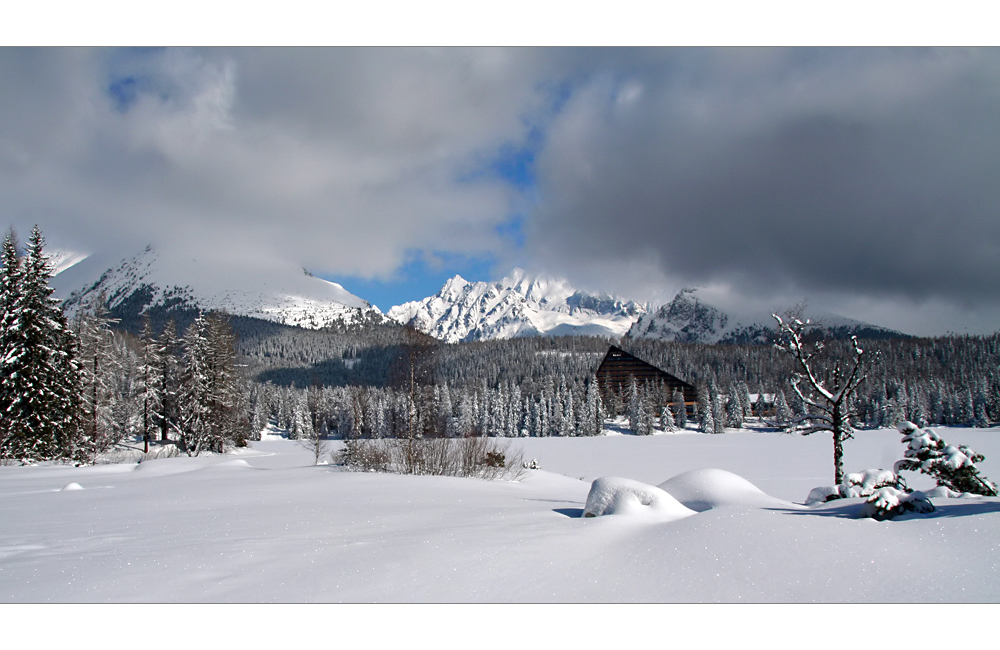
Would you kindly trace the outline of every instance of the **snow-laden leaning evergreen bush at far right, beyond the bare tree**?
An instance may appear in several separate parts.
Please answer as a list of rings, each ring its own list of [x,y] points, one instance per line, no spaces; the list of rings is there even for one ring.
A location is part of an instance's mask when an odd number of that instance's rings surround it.
[[[982,454],[965,445],[949,445],[933,429],[921,429],[912,422],[900,422],[896,428],[907,445],[903,460],[896,462],[897,474],[903,470],[921,472],[955,492],[998,496],[996,484],[979,475],[976,463],[982,462]]]

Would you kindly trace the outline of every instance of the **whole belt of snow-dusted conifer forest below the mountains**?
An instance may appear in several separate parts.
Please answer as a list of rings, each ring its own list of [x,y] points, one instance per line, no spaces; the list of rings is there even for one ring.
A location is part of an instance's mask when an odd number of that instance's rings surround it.
[[[314,439],[584,436],[615,418],[640,434],[719,433],[747,418],[781,429],[809,414],[791,390],[794,359],[773,343],[566,336],[444,344],[378,315],[310,330],[190,305],[116,314],[102,297],[69,323],[50,297],[41,247],[37,231],[27,256],[10,235],[4,242],[6,461],[88,462],[136,437],[147,448],[156,440],[191,454],[223,451],[268,423]],[[697,386],[698,403],[685,407],[634,382],[620,394],[600,389],[595,372],[613,343]],[[812,360],[821,374],[854,349],[846,338],[822,343]],[[860,344],[865,379],[850,396],[851,426],[1000,421],[1000,334]],[[44,403],[26,401],[35,393]]]

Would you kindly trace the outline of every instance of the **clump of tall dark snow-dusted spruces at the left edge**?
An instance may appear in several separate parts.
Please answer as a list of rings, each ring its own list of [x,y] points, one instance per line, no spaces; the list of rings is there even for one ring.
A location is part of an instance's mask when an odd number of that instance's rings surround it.
[[[76,338],[53,299],[51,267],[38,226],[27,256],[10,231],[3,245],[0,302],[0,445],[22,462],[78,457],[79,367]]]

